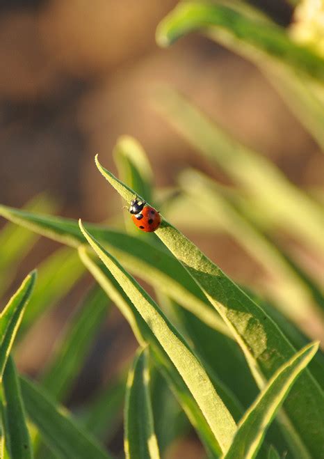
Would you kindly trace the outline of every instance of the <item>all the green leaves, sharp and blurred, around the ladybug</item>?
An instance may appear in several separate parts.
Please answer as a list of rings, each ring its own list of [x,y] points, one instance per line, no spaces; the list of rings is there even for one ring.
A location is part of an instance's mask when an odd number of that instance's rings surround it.
[[[226,1],[179,3],[160,24],[157,40],[169,45],[197,29],[257,63],[270,81],[276,75],[276,87],[324,148],[321,57],[242,2],[231,7]],[[284,228],[323,254],[323,208],[176,91],[165,88],[156,107],[224,169],[240,192],[186,170],[177,193],[163,199],[162,224],[150,235],[128,221],[124,231],[44,215],[38,211],[54,210],[44,198],[24,210],[0,206],[0,215],[10,221],[0,235],[1,293],[38,236],[65,245],[39,267],[34,292],[32,272],[0,316],[1,457],[110,458],[103,444],[118,426],[124,404],[127,458],[159,458],[189,423],[210,458],[287,453],[321,458],[324,360],[318,342],[308,343],[317,335],[305,324],[323,323],[323,292],[270,233]],[[122,137],[115,160],[120,178],[98,158],[97,168],[126,203],[135,194],[159,203],[149,162],[136,141]],[[226,231],[271,274],[267,302],[254,286],[236,285],[168,223],[168,217],[177,223],[181,215],[182,225],[193,226],[186,212],[192,201],[208,217],[209,227],[200,226],[201,231]],[[13,346],[86,270],[94,286],[67,324],[39,382],[18,375],[10,357]],[[154,288],[159,305],[132,275]],[[127,378],[120,374],[72,414],[61,404],[111,302],[129,322],[138,352]]]

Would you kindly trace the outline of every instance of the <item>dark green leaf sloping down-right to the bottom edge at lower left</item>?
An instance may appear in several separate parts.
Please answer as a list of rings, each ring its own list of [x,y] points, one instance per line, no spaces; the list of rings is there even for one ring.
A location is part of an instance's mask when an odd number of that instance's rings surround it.
[[[79,427],[67,409],[57,406],[38,385],[28,378],[20,378],[20,385],[26,411],[54,453],[66,459],[111,458],[92,435]]]

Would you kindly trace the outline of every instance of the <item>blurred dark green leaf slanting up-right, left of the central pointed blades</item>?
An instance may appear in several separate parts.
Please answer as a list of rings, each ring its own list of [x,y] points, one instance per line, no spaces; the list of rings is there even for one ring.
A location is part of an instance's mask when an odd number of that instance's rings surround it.
[[[64,400],[69,394],[107,312],[107,295],[95,286],[67,323],[41,378],[42,386],[56,400]]]

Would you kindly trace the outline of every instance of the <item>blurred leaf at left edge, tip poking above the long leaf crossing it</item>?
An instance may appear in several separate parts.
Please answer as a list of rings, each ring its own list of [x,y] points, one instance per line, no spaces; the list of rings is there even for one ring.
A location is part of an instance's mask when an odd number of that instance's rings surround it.
[[[53,213],[56,210],[54,201],[45,194],[31,199],[24,210],[30,212]],[[0,295],[10,283],[17,264],[31,251],[38,235],[12,223],[6,224],[0,231]]]

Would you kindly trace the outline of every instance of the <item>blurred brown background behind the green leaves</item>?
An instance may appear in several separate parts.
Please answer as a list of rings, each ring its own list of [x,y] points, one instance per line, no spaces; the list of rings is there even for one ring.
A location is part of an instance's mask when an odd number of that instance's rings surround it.
[[[243,143],[268,155],[300,187],[323,186],[323,155],[254,66],[197,35],[170,49],[156,46],[156,26],[176,3],[1,1],[1,203],[20,207],[46,190],[60,202],[61,215],[88,221],[115,215],[120,201],[98,176],[94,156],[100,153],[102,163],[115,171],[111,152],[120,134],[143,143],[160,187],[173,185],[188,165],[225,180],[152,109],[149,95],[161,82],[179,88]],[[254,3],[262,3],[280,24],[289,23],[291,10],[284,1]],[[261,275],[229,238],[218,235],[211,244],[210,236],[191,237],[239,281]],[[42,240],[37,247],[17,282],[58,246]],[[38,327],[24,349],[22,368],[37,373],[80,295],[76,289],[56,316]],[[131,355],[136,347],[123,319],[117,311],[114,315],[110,338],[97,345],[104,362],[117,350]],[[81,377],[75,399],[96,384],[94,368],[90,380]]]

